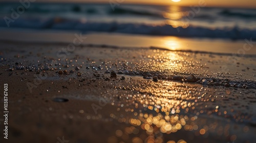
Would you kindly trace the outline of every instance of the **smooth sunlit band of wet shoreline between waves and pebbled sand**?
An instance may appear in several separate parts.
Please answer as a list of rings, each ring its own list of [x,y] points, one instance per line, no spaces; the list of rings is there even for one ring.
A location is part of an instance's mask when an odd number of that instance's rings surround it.
[[[39,42],[39,43],[72,43],[75,34],[79,32],[57,32],[56,31],[36,31],[31,30],[15,31],[3,30],[0,34],[0,41],[16,41],[16,42]],[[111,45],[113,47],[155,47],[174,51],[203,51],[210,53],[240,53],[240,54],[256,54],[256,43],[254,41],[240,40],[231,41],[224,39],[208,39],[208,38],[179,38],[174,36],[145,36],[132,34],[116,34],[116,33],[88,33],[82,34],[84,39],[81,45]],[[225,48],[223,48],[225,47]],[[251,48],[250,48],[251,47]],[[240,51],[241,49],[249,49]]]

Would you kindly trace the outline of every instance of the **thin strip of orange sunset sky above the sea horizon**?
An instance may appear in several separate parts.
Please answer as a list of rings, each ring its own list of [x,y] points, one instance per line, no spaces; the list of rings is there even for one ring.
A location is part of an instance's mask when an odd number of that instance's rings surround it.
[[[19,0],[0,0],[0,2],[10,2]],[[23,1],[23,0],[22,0]],[[175,0],[174,0],[175,1]],[[36,0],[36,2],[79,2],[79,3],[110,3],[121,2],[121,4],[152,4],[152,5],[177,5],[177,6],[195,6],[200,2],[205,3],[206,7],[237,7],[237,8],[255,8],[256,0]]]

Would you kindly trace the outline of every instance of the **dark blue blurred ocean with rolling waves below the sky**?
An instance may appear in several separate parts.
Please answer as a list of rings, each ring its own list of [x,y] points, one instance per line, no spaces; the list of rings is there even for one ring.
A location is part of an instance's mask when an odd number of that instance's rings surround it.
[[[256,9],[31,3],[23,12],[19,6],[1,3],[0,28],[256,39]]]

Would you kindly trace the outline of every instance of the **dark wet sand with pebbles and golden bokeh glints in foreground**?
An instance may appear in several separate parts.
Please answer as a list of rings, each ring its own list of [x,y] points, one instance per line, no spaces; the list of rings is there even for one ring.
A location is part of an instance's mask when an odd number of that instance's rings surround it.
[[[1,45],[1,91],[8,83],[9,97],[7,142],[256,139],[254,55],[106,45],[79,45],[65,52],[65,43]],[[3,133],[0,137],[6,141]]]

